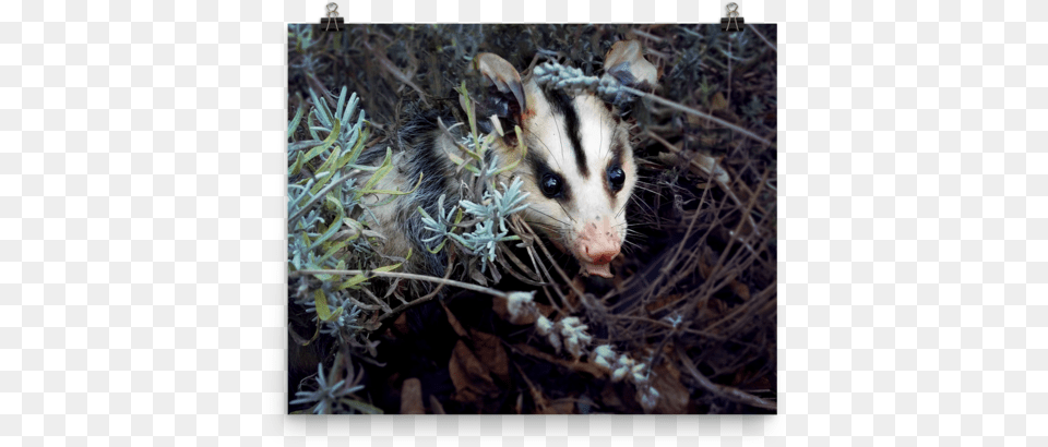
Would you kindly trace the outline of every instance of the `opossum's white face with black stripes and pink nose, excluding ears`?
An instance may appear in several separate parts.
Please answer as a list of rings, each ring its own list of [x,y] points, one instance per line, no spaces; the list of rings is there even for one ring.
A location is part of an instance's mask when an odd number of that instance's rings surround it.
[[[571,97],[525,85],[524,143],[519,172],[529,192],[525,217],[586,275],[610,278],[626,240],[626,206],[636,166],[624,124],[592,95]]]

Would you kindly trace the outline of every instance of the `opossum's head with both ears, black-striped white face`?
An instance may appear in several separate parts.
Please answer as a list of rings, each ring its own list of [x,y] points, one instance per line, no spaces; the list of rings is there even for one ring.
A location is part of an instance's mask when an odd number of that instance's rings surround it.
[[[496,92],[489,110],[521,125],[519,137],[528,152],[515,173],[531,193],[525,218],[571,252],[584,274],[610,278],[608,264],[626,240],[626,205],[636,184],[626,125],[597,97],[541,88],[534,78],[523,82],[498,56],[480,53],[474,68]],[[658,78],[635,40],[612,45],[604,70],[622,85],[646,92]]]

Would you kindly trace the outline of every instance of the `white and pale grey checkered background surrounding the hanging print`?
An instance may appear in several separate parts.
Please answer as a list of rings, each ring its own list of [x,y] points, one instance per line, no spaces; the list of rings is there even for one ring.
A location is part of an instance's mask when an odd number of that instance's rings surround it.
[[[1048,445],[1048,2],[739,1],[779,23],[781,415],[291,418],[285,23],[324,3],[0,5],[0,445]]]

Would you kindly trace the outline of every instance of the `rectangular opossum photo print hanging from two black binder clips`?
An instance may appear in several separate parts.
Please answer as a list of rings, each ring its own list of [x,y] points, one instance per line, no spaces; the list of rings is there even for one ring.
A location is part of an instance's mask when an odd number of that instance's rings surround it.
[[[287,411],[775,413],[776,36],[289,25]]]

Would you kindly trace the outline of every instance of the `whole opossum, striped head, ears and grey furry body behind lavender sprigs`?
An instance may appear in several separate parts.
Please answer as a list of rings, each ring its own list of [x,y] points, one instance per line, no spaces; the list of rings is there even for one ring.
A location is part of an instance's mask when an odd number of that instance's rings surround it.
[[[490,113],[505,124],[501,125],[504,136],[496,138],[488,154],[498,154],[510,165],[520,159],[519,138],[527,148],[526,157],[497,183],[508,184],[519,177],[522,191],[528,193],[527,207],[521,212],[524,220],[558,249],[571,253],[583,275],[611,278],[609,265],[627,235],[623,209],[638,182],[622,110],[593,94],[541,86],[531,73],[522,78],[509,62],[492,53],[478,55],[473,69],[492,92],[479,105],[477,121],[491,122]],[[604,70],[638,89],[651,90],[656,82],[655,67],[644,59],[635,40],[616,43],[606,55]],[[458,176],[472,173],[456,173],[449,156],[462,157],[455,138],[464,135],[467,125],[454,125],[455,117],[463,113],[450,107],[413,108],[408,113],[390,144],[395,169],[376,189],[405,191],[420,177],[422,180],[410,194],[391,202],[384,194],[371,194],[365,196],[365,204],[370,206],[372,225],[388,238],[381,253],[404,257],[410,250],[408,269],[442,275],[445,261],[426,250],[422,239],[431,234],[424,230],[417,209],[436,216],[441,213],[438,197],[444,196],[445,207],[462,198]],[[520,135],[513,132],[515,125]],[[491,125],[485,129],[491,131]],[[384,146],[376,147],[362,159],[376,162],[384,155]]]

